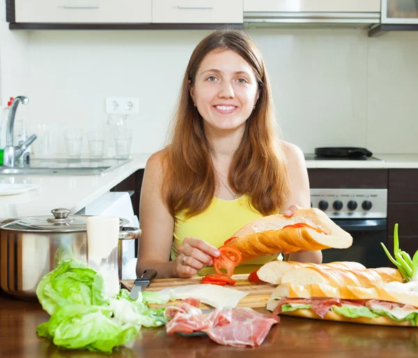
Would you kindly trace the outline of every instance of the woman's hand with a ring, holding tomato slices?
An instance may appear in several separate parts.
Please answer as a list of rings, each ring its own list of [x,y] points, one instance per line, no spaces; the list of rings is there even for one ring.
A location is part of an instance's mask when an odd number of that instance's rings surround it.
[[[203,267],[212,265],[213,256],[220,255],[216,247],[195,238],[185,238],[177,251],[175,274],[182,279],[193,277]]]

